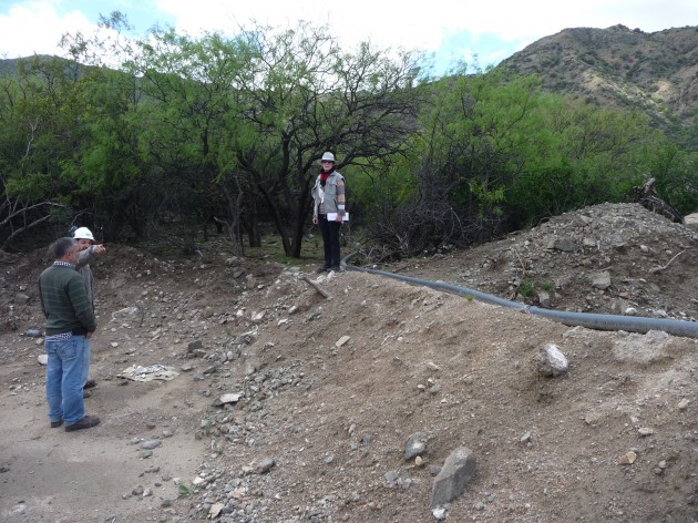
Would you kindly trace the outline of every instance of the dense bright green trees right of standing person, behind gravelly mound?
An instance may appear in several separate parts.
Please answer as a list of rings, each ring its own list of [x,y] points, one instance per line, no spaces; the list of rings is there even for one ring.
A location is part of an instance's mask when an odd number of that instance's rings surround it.
[[[651,157],[660,161],[664,139],[637,114],[543,94],[535,78],[464,72],[424,88],[415,161],[401,174],[413,188],[393,192],[371,221],[372,236],[397,252],[469,245],[628,201]]]

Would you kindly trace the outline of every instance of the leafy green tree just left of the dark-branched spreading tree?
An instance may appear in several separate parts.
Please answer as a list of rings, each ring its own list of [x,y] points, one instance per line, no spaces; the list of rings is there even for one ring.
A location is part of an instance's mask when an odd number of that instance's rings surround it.
[[[197,224],[213,214],[227,216],[234,252],[243,254],[247,184],[236,165],[234,81],[245,65],[244,50],[219,34],[192,39],[173,29],[154,31],[140,50],[131,72],[146,100],[141,148],[167,178],[166,205]]]

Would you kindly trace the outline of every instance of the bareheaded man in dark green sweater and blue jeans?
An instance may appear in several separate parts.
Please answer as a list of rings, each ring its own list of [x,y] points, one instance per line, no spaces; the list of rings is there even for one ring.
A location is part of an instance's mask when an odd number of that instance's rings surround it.
[[[75,239],[59,238],[51,253],[53,265],[39,277],[41,310],[47,318],[47,402],[51,428],[65,423],[65,431],[72,432],[100,423],[99,418],[85,416],[82,397],[84,353],[90,352],[96,318],[84,280],[75,270]]]

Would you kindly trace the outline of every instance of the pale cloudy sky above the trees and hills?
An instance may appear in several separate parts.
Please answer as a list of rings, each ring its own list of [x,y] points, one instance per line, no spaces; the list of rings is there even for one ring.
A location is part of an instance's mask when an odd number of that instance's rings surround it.
[[[195,35],[202,29],[233,35],[250,20],[276,28],[298,20],[326,25],[351,48],[371,40],[381,48],[432,52],[437,73],[453,60],[495,65],[530,43],[566,28],[622,23],[645,32],[698,25],[698,0],[0,0],[0,58],[63,55],[63,33],[93,32],[99,16],[117,10],[134,37],[155,24]]]

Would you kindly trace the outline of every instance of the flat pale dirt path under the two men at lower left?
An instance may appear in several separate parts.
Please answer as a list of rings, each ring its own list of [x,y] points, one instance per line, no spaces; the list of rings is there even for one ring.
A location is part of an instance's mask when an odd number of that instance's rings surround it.
[[[205,451],[189,424],[203,406],[191,401],[188,378],[145,383],[99,380],[85,407],[102,423],[69,433],[49,428],[44,368],[37,361],[34,339],[21,338],[19,343],[29,346],[22,350],[24,357],[0,367],[0,382],[14,384],[13,390],[3,387],[0,396],[0,521],[156,519],[166,510],[163,500],[177,499],[176,479],[191,483]],[[119,358],[107,350],[93,355],[92,376],[97,379],[113,372],[112,361]],[[141,442],[152,440],[161,444],[144,458]]]

